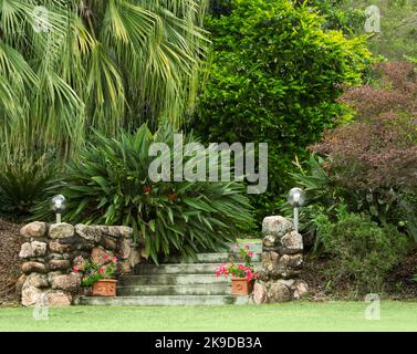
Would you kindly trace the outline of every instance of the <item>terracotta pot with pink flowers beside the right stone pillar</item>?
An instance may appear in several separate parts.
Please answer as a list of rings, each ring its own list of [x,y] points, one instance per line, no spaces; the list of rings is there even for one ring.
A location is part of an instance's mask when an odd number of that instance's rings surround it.
[[[234,246],[238,248],[238,246]],[[249,295],[253,291],[254,280],[258,273],[252,266],[253,252],[249,251],[249,246],[239,248],[239,253],[244,260],[244,264],[237,264],[231,261],[229,264],[219,266],[216,270],[216,275],[231,275],[231,293],[232,295]]]

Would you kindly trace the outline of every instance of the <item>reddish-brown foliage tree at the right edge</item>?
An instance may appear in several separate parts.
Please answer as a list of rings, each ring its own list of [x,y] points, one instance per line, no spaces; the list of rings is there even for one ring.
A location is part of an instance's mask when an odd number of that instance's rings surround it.
[[[329,174],[344,187],[382,194],[417,191],[417,73],[409,63],[383,63],[374,86],[350,88],[342,101],[354,123],[327,131],[310,147],[326,155]]]

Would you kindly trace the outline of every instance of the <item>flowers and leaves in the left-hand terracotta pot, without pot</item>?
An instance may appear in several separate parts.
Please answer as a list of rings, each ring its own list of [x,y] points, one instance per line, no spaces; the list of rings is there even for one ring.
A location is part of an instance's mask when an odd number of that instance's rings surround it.
[[[110,279],[113,278],[116,269],[118,259],[116,257],[111,257],[105,254],[104,257],[105,264],[96,264],[93,260],[87,260],[82,268],[73,268],[74,273],[83,272],[83,277],[81,279],[81,285],[90,287],[91,284],[95,283],[101,279]]]

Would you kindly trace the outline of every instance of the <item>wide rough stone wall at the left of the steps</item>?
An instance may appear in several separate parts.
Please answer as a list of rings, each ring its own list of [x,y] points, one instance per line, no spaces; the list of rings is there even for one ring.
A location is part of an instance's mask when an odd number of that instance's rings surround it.
[[[119,259],[116,274],[129,273],[145,256],[132,240],[133,230],[121,226],[72,226],[66,222],[48,225],[34,221],[20,233],[27,239],[19,257],[23,260],[17,283],[24,306],[45,299],[49,305],[70,305],[90,289],[81,288],[81,269],[92,258],[98,264],[107,262],[106,254]]]

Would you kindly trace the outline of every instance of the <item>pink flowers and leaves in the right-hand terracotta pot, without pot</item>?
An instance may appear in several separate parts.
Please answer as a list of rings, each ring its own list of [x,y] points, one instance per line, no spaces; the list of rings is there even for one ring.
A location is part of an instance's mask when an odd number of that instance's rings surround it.
[[[239,247],[236,244],[236,249]],[[244,264],[237,264],[234,261],[231,261],[229,264],[221,264],[216,269],[217,277],[229,277],[234,278],[246,278],[248,282],[258,278],[258,273],[254,271],[252,264],[253,252],[250,251],[249,246],[239,248],[239,256],[243,259]]]

